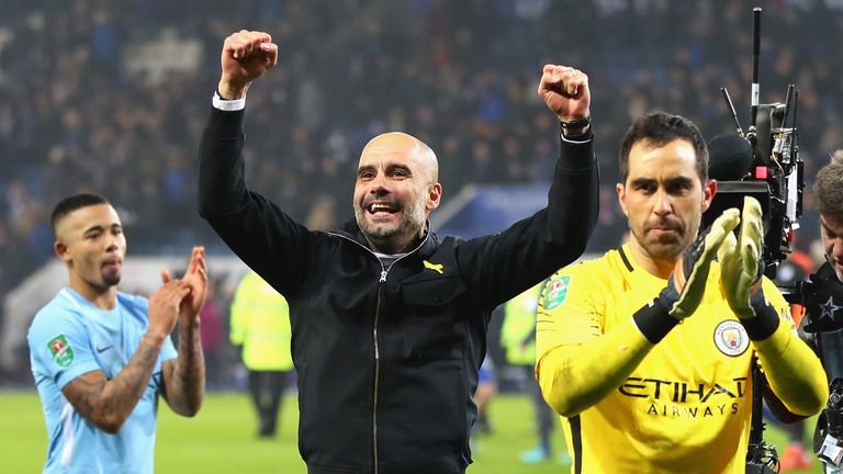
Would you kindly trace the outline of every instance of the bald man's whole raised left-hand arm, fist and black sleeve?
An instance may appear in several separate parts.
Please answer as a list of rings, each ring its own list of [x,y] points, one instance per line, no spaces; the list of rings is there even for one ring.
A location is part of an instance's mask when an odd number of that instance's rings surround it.
[[[243,149],[245,101],[249,86],[278,61],[269,34],[240,31],[225,38],[221,77],[199,148],[199,215],[247,266],[276,289],[291,294],[295,271],[279,274],[273,262],[303,270],[311,233],[246,184]],[[283,279],[283,280],[282,280]]]

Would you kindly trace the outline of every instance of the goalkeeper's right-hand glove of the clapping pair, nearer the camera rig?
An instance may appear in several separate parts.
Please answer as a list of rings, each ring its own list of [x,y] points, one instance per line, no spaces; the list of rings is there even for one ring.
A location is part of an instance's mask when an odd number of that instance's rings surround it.
[[[758,305],[764,305],[761,274],[762,224],[761,204],[754,198],[743,198],[741,228],[735,239],[729,234],[717,252],[720,260],[720,287],[734,314],[746,319],[754,317]]]

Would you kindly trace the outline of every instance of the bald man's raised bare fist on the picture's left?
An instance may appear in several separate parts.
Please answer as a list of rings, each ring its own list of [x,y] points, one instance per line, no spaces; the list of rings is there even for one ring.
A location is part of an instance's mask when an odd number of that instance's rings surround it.
[[[240,30],[225,38],[220,63],[221,99],[243,99],[251,81],[278,64],[278,45],[267,33]]]

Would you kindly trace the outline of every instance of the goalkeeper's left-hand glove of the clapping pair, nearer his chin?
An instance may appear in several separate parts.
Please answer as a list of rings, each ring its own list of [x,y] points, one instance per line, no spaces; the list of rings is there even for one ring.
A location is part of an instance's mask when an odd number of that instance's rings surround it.
[[[738,210],[729,208],[718,217],[707,232],[687,248],[671,273],[667,286],[659,294],[659,302],[676,319],[690,316],[702,301],[708,270],[726,238],[738,226]]]

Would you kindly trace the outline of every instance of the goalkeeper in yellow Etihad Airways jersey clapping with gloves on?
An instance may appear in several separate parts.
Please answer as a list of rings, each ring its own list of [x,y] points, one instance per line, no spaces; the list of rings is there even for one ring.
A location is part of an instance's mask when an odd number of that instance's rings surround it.
[[[761,276],[757,201],[698,233],[717,191],[707,168],[690,121],[638,120],[617,184],[629,242],[544,287],[536,376],[562,416],[573,473],[743,473],[753,354],[787,410],[807,417],[825,403],[820,361]]]

